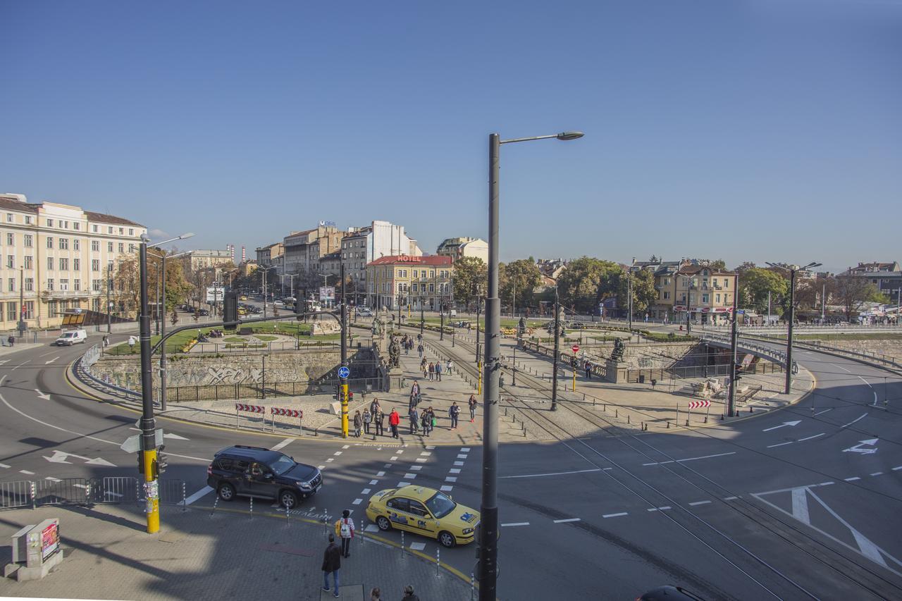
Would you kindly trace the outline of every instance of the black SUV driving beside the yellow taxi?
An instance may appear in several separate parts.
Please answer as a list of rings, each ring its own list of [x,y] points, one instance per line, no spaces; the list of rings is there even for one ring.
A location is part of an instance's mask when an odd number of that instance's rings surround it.
[[[235,495],[254,496],[277,499],[292,508],[314,495],[322,484],[323,475],[316,467],[262,447],[224,448],[207,467],[207,485],[223,501],[232,501]]]

